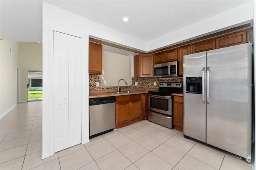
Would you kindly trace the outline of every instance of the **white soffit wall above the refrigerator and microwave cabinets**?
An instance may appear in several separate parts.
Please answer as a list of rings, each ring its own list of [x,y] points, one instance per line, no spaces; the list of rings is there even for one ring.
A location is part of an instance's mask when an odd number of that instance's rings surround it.
[[[146,43],[145,51],[153,51],[170,44],[188,40],[215,30],[220,30],[235,24],[253,19],[253,1],[222,12],[206,20],[202,20],[165,36]]]

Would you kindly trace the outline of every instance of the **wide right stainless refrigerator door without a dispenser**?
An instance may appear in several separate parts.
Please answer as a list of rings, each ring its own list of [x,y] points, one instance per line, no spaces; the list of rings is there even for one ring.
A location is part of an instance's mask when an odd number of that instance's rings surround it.
[[[206,52],[206,143],[251,159],[251,44]]]

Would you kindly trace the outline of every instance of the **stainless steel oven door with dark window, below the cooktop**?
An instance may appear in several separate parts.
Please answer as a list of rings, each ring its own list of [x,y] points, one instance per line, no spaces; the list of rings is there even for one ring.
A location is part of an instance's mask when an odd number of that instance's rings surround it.
[[[172,116],[172,97],[148,95],[148,110]]]

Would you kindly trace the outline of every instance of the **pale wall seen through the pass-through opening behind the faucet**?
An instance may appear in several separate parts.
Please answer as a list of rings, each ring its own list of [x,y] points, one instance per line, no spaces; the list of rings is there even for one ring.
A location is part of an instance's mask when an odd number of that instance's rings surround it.
[[[102,51],[100,87],[117,86],[119,79],[125,79],[130,85],[130,69],[129,56]],[[124,81],[120,81],[120,86],[125,86]]]

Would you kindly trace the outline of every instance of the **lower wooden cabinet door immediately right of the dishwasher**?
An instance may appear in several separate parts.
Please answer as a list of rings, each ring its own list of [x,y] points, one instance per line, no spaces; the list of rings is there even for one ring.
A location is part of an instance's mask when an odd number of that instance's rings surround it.
[[[130,121],[130,102],[116,103],[116,126]]]

